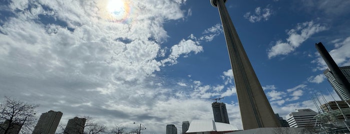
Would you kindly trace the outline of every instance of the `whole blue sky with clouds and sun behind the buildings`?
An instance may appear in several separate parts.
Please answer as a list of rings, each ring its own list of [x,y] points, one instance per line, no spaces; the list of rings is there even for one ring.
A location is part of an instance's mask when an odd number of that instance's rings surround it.
[[[226,7],[275,113],[339,97],[314,44],[350,65],[349,0],[227,0]],[[213,119],[224,97],[242,122],[219,13],[209,0],[1,0],[0,99],[38,113],[89,115],[109,128],[181,132]],[[330,90],[330,94],[326,88]],[[38,116],[40,114],[37,114]],[[284,117],[285,118],[285,117]]]

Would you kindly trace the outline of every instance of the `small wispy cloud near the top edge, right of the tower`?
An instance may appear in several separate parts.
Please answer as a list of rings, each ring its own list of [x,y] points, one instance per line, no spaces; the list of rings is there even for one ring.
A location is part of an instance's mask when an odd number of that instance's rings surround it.
[[[267,5],[265,8],[261,9],[261,7],[256,7],[253,13],[247,12],[244,14],[244,18],[248,19],[250,22],[259,22],[260,20],[268,20],[271,16],[272,10],[270,5]]]

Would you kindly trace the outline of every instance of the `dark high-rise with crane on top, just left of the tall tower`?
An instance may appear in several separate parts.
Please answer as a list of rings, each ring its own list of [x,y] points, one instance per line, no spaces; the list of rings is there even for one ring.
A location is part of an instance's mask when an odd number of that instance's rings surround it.
[[[214,121],[222,123],[230,123],[228,120],[226,104],[223,102],[213,102],[211,103],[213,107]]]

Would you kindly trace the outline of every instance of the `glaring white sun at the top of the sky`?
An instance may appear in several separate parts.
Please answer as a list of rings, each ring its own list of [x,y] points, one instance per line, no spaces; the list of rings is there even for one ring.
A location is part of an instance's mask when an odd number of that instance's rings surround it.
[[[109,0],[107,4],[108,12],[115,19],[123,19],[127,15],[127,9],[124,0]]]

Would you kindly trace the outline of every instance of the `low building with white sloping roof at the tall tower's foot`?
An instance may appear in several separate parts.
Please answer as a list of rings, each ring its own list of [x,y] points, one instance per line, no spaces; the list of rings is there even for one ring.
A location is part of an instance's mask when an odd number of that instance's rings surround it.
[[[221,134],[236,131],[238,128],[232,124],[214,122],[211,119],[192,120],[186,131],[188,134]]]

